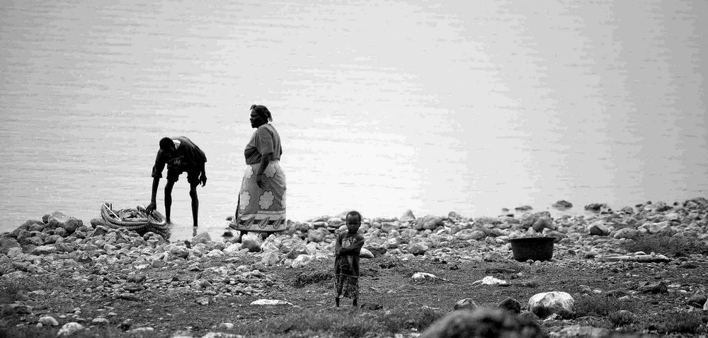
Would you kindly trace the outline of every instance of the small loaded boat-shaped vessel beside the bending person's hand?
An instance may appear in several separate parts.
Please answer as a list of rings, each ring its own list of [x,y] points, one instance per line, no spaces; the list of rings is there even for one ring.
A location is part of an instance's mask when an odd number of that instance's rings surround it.
[[[116,211],[113,210],[112,204],[106,202],[101,206],[101,218],[111,228],[124,228],[141,234],[152,231],[164,238],[169,235],[169,226],[165,216],[157,210],[148,215],[144,206]]]

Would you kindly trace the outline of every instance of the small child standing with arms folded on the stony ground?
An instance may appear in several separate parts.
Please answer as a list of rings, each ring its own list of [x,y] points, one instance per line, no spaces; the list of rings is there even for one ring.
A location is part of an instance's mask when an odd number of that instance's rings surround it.
[[[352,298],[353,306],[359,301],[359,252],[364,246],[364,236],[360,235],[361,214],[349,211],[346,216],[347,232],[337,235],[334,243],[334,290],[335,305],[339,307],[339,298]]]

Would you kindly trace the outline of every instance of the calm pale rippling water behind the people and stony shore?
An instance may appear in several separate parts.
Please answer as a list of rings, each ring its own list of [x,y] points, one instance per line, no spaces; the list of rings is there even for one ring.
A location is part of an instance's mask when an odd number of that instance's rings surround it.
[[[185,135],[221,235],[253,103],[295,220],[708,192],[706,1],[116,2],[0,1],[0,231],[147,204]],[[173,219],[187,238],[185,177]]]

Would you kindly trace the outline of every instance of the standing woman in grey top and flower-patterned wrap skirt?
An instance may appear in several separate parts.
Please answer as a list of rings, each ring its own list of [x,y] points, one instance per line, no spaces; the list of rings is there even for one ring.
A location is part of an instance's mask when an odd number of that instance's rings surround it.
[[[280,168],[280,136],[264,105],[251,105],[251,127],[246,144],[246,172],[231,227],[247,233],[285,231],[285,173]]]

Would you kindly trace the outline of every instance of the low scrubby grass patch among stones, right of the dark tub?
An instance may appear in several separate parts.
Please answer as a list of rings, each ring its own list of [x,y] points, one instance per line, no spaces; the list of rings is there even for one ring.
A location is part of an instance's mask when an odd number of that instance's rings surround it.
[[[641,235],[636,240],[622,243],[628,252],[656,252],[674,257],[685,257],[691,254],[708,255],[708,244],[690,238],[671,237],[668,235]]]

